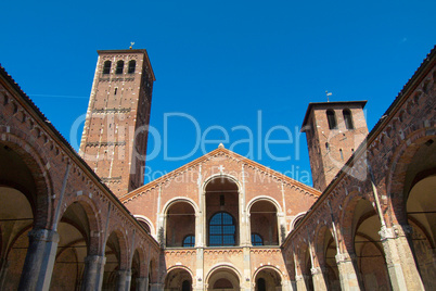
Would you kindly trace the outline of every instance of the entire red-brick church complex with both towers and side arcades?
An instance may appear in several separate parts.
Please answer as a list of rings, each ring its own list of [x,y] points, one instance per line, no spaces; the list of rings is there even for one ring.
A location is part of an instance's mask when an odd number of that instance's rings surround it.
[[[435,63],[371,131],[309,104],[313,188],[222,144],[143,185],[145,50],[99,51],[79,153],[1,67],[1,289],[436,289]]]

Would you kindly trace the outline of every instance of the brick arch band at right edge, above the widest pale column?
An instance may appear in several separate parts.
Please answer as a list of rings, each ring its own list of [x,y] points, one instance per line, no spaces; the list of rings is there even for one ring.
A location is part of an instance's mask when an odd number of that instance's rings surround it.
[[[429,139],[435,140],[432,130],[419,129],[409,135],[397,148],[388,165],[390,169],[386,179],[386,193],[388,199],[387,213],[395,223],[407,224],[405,182],[409,165],[418,150]],[[427,135],[428,134],[428,135]],[[432,135],[433,134],[433,135]],[[408,146],[409,144],[409,146]]]

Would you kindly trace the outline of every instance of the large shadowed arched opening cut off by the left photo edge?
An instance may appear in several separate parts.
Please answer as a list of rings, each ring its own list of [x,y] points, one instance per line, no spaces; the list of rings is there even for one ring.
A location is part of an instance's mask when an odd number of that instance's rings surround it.
[[[11,144],[14,147],[15,144]],[[35,173],[27,164],[30,156],[23,156],[18,151],[0,143],[0,289],[17,290],[23,266],[29,245],[28,232],[37,223],[36,213],[47,215],[44,208],[38,208],[38,185]],[[24,151],[24,150],[22,150]],[[20,153],[18,153],[20,152]],[[26,154],[26,153],[24,153]],[[39,175],[38,173],[36,175]],[[41,175],[42,176],[42,175]],[[43,201],[46,202],[46,201]],[[41,217],[40,217],[41,218]],[[46,224],[46,218],[40,219]]]

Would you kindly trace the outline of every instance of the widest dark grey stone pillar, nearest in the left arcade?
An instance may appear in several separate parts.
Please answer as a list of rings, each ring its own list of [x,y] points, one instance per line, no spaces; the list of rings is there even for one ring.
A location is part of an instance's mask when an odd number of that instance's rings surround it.
[[[29,246],[18,290],[49,290],[59,235],[53,230],[34,229],[29,231],[28,237]]]

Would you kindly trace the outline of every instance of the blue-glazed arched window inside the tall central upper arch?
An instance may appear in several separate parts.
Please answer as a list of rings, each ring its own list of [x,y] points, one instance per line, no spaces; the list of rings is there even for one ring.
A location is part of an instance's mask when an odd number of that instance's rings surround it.
[[[209,222],[209,245],[230,246],[235,245],[236,225],[234,218],[226,213],[215,214]]]

